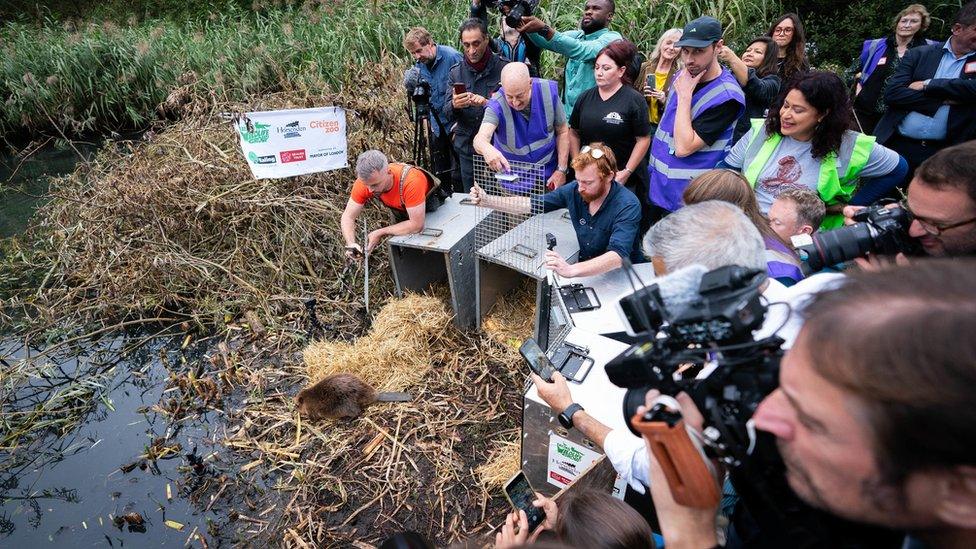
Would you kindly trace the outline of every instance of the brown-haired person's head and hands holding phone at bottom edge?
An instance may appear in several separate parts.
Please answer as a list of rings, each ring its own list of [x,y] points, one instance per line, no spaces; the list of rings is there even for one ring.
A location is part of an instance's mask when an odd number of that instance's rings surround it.
[[[537,494],[538,495],[538,494]],[[610,494],[586,490],[556,502],[539,496],[532,502],[546,513],[546,520],[530,535],[525,511],[512,512],[495,535],[496,549],[510,549],[534,542],[550,530],[558,541],[587,549],[654,549],[651,527],[633,507]],[[516,528],[518,527],[518,528]]]

